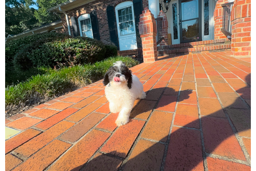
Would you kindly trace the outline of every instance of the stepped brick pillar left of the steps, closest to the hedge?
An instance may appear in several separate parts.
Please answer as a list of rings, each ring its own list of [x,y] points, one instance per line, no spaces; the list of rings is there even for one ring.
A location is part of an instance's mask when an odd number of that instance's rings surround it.
[[[143,61],[156,61],[156,22],[148,8],[140,14],[139,33],[142,41]]]

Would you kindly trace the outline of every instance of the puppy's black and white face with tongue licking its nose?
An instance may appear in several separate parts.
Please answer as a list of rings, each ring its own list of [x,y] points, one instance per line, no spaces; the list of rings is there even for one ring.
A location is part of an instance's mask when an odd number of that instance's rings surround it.
[[[131,89],[132,75],[131,70],[122,61],[117,61],[111,66],[104,76],[103,84],[106,86],[123,86],[127,83],[129,89]]]

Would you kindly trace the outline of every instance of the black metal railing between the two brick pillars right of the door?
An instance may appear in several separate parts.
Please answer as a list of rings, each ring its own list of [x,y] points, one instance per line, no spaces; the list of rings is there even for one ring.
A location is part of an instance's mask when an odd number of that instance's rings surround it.
[[[231,36],[231,21],[230,21],[230,16],[231,16],[231,10],[233,7],[234,2],[229,2],[229,3],[224,3],[221,4],[223,8],[223,13],[222,13],[222,28],[220,29],[225,35]]]

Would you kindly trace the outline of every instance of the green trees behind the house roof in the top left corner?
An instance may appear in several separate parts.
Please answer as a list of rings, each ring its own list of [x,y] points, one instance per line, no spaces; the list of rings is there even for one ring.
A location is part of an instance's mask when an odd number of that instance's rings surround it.
[[[5,0],[5,38],[60,19],[59,13],[47,10],[66,1]]]

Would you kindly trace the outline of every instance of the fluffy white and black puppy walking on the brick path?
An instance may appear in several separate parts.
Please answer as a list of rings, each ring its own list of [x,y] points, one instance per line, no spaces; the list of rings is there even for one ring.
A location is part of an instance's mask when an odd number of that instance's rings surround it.
[[[106,98],[112,113],[119,115],[115,121],[117,126],[129,122],[133,104],[137,98],[143,99],[146,93],[142,83],[136,75],[122,61],[117,61],[111,66],[104,76]]]

